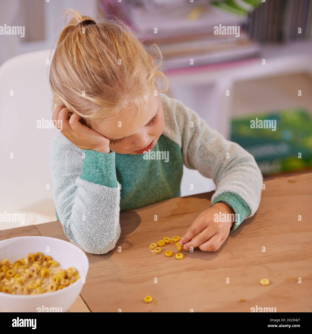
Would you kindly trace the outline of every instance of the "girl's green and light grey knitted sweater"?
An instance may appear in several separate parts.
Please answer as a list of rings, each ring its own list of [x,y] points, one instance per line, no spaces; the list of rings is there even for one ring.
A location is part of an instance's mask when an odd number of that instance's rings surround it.
[[[81,150],[59,131],[52,142],[58,219],[68,239],[88,253],[105,254],[114,248],[120,210],[180,196],[183,164],[213,179],[212,205],[225,202],[238,214],[231,231],[258,209],[262,175],[254,157],[225,140],[182,102],[160,96],[165,127],[149,159],[145,154]],[[169,159],[161,156],[166,152]]]

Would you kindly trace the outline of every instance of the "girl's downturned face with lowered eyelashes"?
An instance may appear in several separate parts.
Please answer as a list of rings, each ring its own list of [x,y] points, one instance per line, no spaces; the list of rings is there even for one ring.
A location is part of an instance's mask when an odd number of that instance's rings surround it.
[[[120,122],[120,123],[119,123]],[[109,148],[120,154],[143,154],[152,149],[164,131],[164,112],[160,95],[150,94],[149,102],[137,118],[127,119],[126,115],[93,129],[110,139]]]

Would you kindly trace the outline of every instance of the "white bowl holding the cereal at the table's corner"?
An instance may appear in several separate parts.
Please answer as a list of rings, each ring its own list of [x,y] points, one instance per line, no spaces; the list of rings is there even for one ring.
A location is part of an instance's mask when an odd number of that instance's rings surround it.
[[[0,241],[0,261],[9,259],[10,263],[14,263],[36,252],[51,256],[60,268],[75,267],[80,279],[64,289],[40,295],[0,292],[0,312],[44,312],[44,308],[48,308],[45,312],[66,312],[78,297],[82,278],[87,276],[89,269],[88,258],[80,248],[68,241],[47,236],[21,236]]]

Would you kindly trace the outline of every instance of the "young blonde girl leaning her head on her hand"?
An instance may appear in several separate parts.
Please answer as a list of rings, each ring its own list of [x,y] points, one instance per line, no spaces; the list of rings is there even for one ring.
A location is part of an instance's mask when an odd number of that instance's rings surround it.
[[[66,236],[88,253],[109,252],[120,236],[119,211],[180,196],[185,164],[217,189],[180,244],[216,251],[258,209],[262,175],[255,159],[163,93],[168,81],[160,64],[119,20],[71,14],[50,68],[58,106],[52,120],[60,125],[52,187]],[[166,90],[157,88],[157,77]],[[166,160],[146,159],[149,150]],[[220,221],[224,213],[239,218]]]

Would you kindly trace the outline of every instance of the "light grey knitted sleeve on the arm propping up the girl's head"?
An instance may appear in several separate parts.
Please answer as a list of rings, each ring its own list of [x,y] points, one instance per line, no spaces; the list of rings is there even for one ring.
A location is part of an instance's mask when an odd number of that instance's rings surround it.
[[[117,187],[112,187],[111,177],[110,186],[106,186],[80,175],[84,164],[93,164],[85,169],[94,170],[97,180],[98,175],[115,172],[115,153],[89,151],[93,156],[88,158],[87,151],[58,132],[50,155],[54,203],[68,239],[88,253],[105,254],[114,248],[120,236],[120,188],[117,181]],[[90,172],[87,176],[92,178]]]

